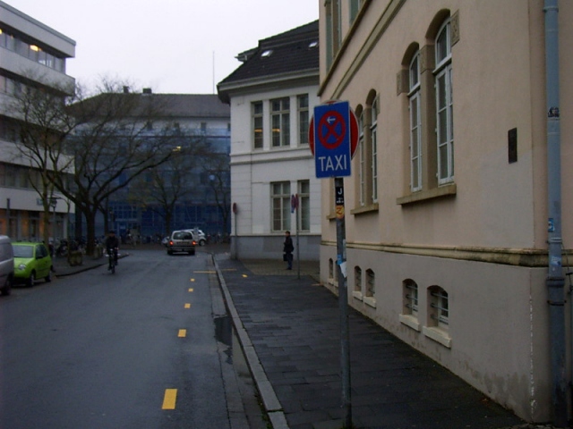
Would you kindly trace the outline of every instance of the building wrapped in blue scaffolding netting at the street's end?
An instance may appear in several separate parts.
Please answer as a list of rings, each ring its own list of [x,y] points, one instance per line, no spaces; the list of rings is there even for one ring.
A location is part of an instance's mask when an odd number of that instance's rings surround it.
[[[125,90],[127,91],[127,88]],[[134,203],[133,196],[130,195],[134,189],[133,184],[109,199],[108,208],[113,228],[120,235],[129,230],[132,234],[141,235],[142,240],[149,238],[155,240],[169,231],[190,228],[199,228],[213,237],[228,235],[230,231],[229,106],[219,101],[218,96],[214,94],[154,94],[150,88],[144,88],[139,97],[141,101],[158,106],[157,121],[147,125],[149,130],[146,130],[146,133],[150,139],[164,127],[172,127],[174,134],[180,136],[177,138],[177,146],[201,145],[205,149],[205,154],[200,161],[190,163],[192,168],[186,176],[185,183],[188,189],[182,192],[182,197],[177,200],[168,228],[165,212],[158,200],[169,196],[166,194],[157,196],[158,198],[147,201],[145,205],[141,202]],[[206,160],[213,154],[220,156],[221,162],[216,165],[217,168],[213,168],[212,165],[208,168]],[[201,155],[194,157],[201,158]],[[172,164],[158,167],[166,179],[173,173],[170,168]],[[148,180],[147,175],[143,173],[142,180]],[[103,226],[103,220],[99,226]]]

